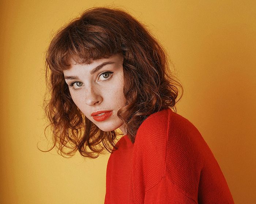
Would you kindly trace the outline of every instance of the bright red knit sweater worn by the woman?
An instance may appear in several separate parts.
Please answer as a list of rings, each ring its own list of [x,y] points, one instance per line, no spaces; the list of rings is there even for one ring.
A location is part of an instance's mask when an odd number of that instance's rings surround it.
[[[225,177],[196,127],[171,109],[150,115],[135,143],[109,157],[105,204],[233,204]]]

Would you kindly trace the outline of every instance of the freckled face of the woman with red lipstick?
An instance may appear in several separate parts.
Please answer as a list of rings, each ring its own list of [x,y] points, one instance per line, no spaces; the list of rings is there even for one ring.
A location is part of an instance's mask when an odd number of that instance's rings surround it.
[[[117,117],[126,102],[121,54],[90,64],[71,62],[63,73],[74,103],[91,122],[105,132],[120,127],[124,133],[123,122]]]

